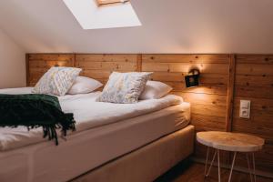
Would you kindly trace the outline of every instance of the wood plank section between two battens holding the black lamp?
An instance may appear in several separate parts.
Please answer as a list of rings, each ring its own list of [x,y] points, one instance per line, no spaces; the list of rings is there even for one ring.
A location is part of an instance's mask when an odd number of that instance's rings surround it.
[[[143,55],[142,71],[174,88],[173,93],[191,103],[191,123],[196,130],[226,131],[229,55]],[[186,88],[184,76],[191,68],[201,72],[201,85]],[[196,142],[195,156],[205,157],[206,147]]]

